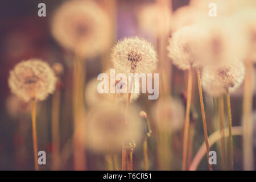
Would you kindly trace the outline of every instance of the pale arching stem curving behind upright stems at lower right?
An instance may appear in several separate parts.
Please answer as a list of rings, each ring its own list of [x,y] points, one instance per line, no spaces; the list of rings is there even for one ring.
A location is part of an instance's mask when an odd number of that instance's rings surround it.
[[[225,133],[228,132],[228,128],[225,129]],[[241,126],[233,126],[232,127],[232,135],[242,135],[242,127]],[[225,135],[225,137],[228,137],[228,135]],[[213,146],[214,143],[216,143],[218,140],[221,139],[221,132],[220,130],[215,131],[213,134],[209,136],[209,147]],[[201,159],[203,159],[205,155],[206,149],[205,144],[203,143],[199,150],[197,151],[195,158],[193,159],[191,166],[189,167],[189,171],[195,171],[197,167],[200,164]]]

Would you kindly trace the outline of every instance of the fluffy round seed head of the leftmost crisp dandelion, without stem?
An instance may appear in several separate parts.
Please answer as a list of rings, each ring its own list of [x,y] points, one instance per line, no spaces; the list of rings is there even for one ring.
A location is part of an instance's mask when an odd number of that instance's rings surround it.
[[[56,77],[52,68],[39,59],[30,59],[17,64],[10,71],[9,86],[11,92],[24,101],[32,99],[43,101],[53,93]]]

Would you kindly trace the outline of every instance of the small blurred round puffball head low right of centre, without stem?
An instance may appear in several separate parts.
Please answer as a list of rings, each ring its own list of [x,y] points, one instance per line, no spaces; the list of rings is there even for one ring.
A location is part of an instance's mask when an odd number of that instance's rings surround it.
[[[152,107],[155,126],[160,130],[179,131],[184,125],[184,106],[177,98],[159,98]]]

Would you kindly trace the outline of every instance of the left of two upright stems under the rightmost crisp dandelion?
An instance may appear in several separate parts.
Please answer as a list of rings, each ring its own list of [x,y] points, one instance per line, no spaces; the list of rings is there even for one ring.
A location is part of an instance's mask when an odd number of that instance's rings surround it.
[[[221,133],[221,162],[222,168],[226,170],[226,142],[225,142],[225,131],[224,131],[224,101],[223,95],[219,97],[219,114],[220,114],[220,133]]]

